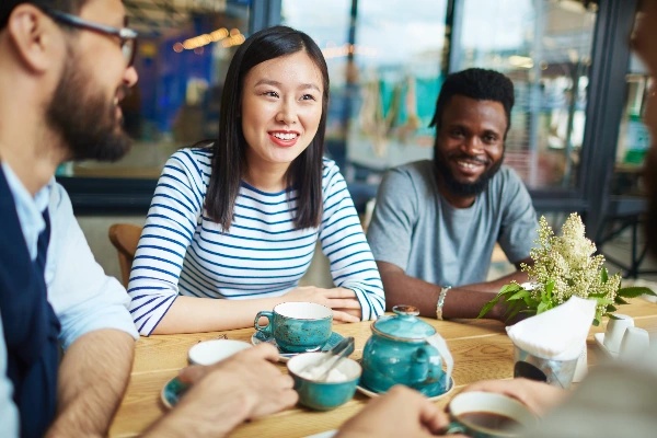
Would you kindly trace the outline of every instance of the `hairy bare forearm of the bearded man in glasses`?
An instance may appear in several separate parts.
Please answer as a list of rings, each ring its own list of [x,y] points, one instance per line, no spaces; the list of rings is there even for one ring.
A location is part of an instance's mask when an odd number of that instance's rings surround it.
[[[118,330],[90,332],[73,342],[59,369],[57,417],[47,436],[106,436],[134,355],[135,339]]]

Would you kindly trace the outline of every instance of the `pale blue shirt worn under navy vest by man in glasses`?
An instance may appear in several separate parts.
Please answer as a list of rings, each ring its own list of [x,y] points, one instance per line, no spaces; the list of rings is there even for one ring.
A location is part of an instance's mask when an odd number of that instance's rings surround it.
[[[130,298],[114,277],[106,276],[91,253],[87,239],[73,216],[71,200],[55,178],[34,197],[7,163],[2,171],[12,192],[21,229],[34,261],[38,235],[45,229],[43,211],[50,216],[50,243],[45,280],[48,301],[61,323],[59,341],[68,348],[85,333],[116,328],[139,337],[127,308]],[[19,435],[18,410],[12,384],[7,377],[7,347],[0,315],[0,424],[3,437]],[[7,435],[4,435],[7,434]]]

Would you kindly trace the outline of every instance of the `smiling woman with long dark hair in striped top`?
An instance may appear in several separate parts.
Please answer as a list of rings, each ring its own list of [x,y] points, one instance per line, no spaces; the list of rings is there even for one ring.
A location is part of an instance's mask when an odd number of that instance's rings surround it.
[[[284,301],[335,321],[383,313],[381,279],[337,165],[323,158],[328,73],[290,27],[235,53],[219,137],[166,165],[137,247],[128,292],[141,334],[245,327]],[[297,287],[316,241],[335,288]]]

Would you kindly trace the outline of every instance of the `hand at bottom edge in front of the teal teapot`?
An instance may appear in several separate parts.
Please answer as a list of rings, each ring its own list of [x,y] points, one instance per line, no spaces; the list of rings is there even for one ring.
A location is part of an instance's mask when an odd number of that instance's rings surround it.
[[[372,399],[347,420],[336,438],[430,437],[449,424],[449,417],[419,392],[406,387],[392,388]]]

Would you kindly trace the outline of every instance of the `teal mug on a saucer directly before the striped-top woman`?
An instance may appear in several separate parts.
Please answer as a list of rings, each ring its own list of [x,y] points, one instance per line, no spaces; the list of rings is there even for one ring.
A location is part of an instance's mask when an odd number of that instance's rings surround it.
[[[268,324],[260,325],[261,318],[268,319]],[[257,312],[253,324],[258,332],[273,336],[281,351],[307,353],[328,342],[333,333],[333,311],[314,302],[284,302],[272,312]]]

